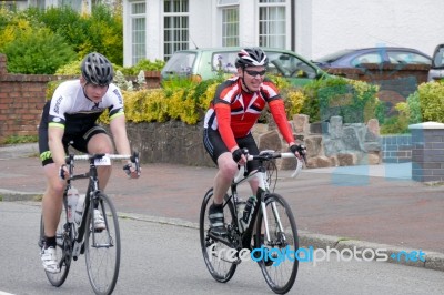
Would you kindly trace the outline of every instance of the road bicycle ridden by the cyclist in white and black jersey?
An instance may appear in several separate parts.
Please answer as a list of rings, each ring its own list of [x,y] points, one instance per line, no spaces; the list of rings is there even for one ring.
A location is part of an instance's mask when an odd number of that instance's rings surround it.
[[[89,172],[74,173],[75,161],[89,161]],[[120,268],[120,230],[118,214],[111,199],[99,190],[98,166],[111,165],[111,160],[131,160],[140,174],[139,154],[90,154],[73,155],[65,159],[70,177],[63,193],[63,210],[56,233],[57,257],[59,273],[46,272],[49,282],[60,287],[67,279],[72,260],[77,261],[81,254],[85,255],[88,277],[95,294],[111,294],[115,287]],[[123,166],[127,174],[129,165]],[[84,210],[80,223],[68,218],[68,190],[71,182],[89,179],[84,199]],[[99,210],[103,216],[105,228],[94,230],[94,211]],[[73,214],[73,213],[72,213]],[[44,236],[43,218],[40,222],[39,247]]]

